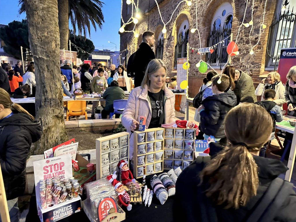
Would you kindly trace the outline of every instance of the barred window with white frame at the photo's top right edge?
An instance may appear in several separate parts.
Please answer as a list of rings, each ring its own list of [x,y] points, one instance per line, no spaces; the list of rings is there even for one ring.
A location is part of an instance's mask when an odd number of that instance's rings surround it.
[[[285,6],[285,10],[281,10]],[[296,1],[279,0],[274,19],[269,27],[266,51],[267,67],[276,70],[282,48],[296,46]]]

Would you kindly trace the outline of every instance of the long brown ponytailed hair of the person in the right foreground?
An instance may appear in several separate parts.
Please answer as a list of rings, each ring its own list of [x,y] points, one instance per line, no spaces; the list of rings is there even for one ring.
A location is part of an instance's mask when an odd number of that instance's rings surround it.
[[[258,152],[271,131],[271,116],[257,104],[242,103],[229,111],[225,133],[231,145],[218,153],[200,173],[201,183],[206,179],[210,184],[207,197],[225,209],[237,209],[257,194],[258,169],[250,152]]]

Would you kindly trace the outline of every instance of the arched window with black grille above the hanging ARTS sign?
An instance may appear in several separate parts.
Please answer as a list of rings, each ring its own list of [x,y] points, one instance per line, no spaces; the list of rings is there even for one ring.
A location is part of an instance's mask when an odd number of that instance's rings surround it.
[[[210,35],[207,39],[207,47],[214,46],[215,44],[221,42],[223,39],[227,38],[231,34],[233,19],[233,9],[230,3],[225,2],[220,5],[220,7],[215,11]],[[207,62],[214,67],[223,67],[227,62],[227,52],[226,48],[230,41],[228,38],[223,44],[218,44],[214,48],[212,54],[207,53]]]

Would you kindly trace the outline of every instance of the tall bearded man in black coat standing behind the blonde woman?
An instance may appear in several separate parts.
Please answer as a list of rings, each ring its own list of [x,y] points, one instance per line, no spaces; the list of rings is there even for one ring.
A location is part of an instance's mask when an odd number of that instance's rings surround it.
[[[134,70],[136,70],[135,88],[141,86],[148,63],[155,59],[155,53],[152,50],[155,43],[154,33],[150,31],[144,32],[142,40],[143,42],[139,45],[133,62],[134,66],[136,66],[134,67]]]

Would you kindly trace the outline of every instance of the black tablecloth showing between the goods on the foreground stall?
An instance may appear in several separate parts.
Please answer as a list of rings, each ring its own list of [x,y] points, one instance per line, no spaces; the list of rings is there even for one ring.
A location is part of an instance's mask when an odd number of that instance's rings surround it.
[[[160,173],[157,173],[156,175],[159,175]],[[149,189],[151,189],[150,186],[150,178],[153,175],[146,176],[146,184]],[[138,181],[141,183],[142,179],[138,179]],[[86,197],[81,197],[81,200],[85,200]],[[152,203],[150,207],[144,206],[143,203],[133,205],[131,211],[127,211],[125,207],[122,207],[123,210],[126,212],[126,219],[124,221],[128,222],[153,222],[153,221],[161,221],[161,222],[171,222],[173,221],[173,200],[174,196],[169,197],[168,200],[164,203],[164,205],[161,205],[159,200],[157,200],[156,196],[153,195]],[[26,222],[32,222],[32,221],[39,221],[38,215],[37,215],[37,207],[36,207],[36,196],[35,196],[35,187],[33,190],[33,194],[30,200],[30,209],[29,213],[26,218]],[[74,221],[81,221],[81,222],[87,222],[89,219],[87,218],[86,214],[82,210],[81,212],[75,213],[67,218],[64,218],[60,220],[61,222],[74,222]]]

